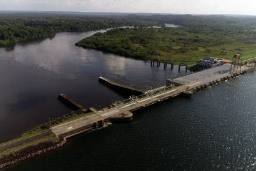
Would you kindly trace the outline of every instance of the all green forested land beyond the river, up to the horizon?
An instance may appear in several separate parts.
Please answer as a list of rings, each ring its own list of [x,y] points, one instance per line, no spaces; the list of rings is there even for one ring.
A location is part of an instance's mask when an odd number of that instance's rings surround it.
[[[58,32],[121,26],[134,28],[109,30],[77,45],[127,57],[191,64],[205,56],[231,58],[236,52],[242,52],[244,58],[256,55],[255,16],[0,12],[0,47],[52,37]]]

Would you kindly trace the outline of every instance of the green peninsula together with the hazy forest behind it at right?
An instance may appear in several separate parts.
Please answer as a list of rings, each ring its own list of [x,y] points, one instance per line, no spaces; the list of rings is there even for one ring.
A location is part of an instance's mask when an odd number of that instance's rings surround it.
[[[129,16],[132,18],[131,16]],[[244,58],[256,55],[256,17],[250,16],[133,16],[144,21],[179,24],[182,27],[114,29],[77,43],[127,57],[160,58],[175,63],[197,63],[207,56]]]

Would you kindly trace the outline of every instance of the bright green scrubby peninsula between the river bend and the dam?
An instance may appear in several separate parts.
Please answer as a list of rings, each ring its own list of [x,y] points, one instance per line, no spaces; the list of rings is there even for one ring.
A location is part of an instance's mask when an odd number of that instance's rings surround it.
[[[126,57],[175,63],[197,63],[206,56],[230,59],[236,52],[244,59],[255,57],[256,44],[246,44],[247,34],[210,34],[190,32],[186,28],[114,29],[77,43],[82,47],[104,50]]]

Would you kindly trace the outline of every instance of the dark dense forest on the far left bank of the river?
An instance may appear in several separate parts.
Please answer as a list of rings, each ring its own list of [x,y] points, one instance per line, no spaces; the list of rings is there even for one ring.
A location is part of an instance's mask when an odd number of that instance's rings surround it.
[[[58,14],[1,14],[0,46],[23,40],[52,37],[57,32],[83,32],[121,26],[155,25],[157,22],[139,21],[121,16],[81,16]]]

